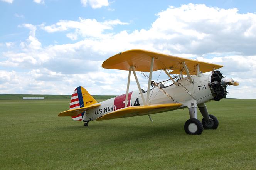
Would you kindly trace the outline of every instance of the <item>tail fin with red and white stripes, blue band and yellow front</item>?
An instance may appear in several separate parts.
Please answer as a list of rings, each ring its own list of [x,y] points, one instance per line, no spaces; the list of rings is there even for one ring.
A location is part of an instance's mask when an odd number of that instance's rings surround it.
[[[85,106],[89,106],[91,104],[98,103],[91,94],[88,93],[86,89],[79,86],[75,89],[74,93],[72,94],[69,110],[82,108]],[[72,116],[72,119],[81,121],[84,116],[84,112],[78,114],[77,116]]]

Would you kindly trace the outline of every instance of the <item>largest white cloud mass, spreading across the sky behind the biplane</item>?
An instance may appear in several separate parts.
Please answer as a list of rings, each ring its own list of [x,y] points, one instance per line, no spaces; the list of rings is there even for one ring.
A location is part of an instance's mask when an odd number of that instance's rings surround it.
[[[118,19],[98,22],[79,18],[78,21],[60,20],[53,25],[41,25],[40,28],[52,34],[64,32],[72,40],[83,38],[76,43],[47,47],[36,38],[38,26],[24,24],[22,26],[30,29],[30,33],[20,44],[23,50],[3,52],[0,66],[13,70],[30,68],[30,72],[6,73],[16,76],[17,82],[25,81],[16,93],[69,94],[76,86],[84,86],[91,94],[122,94],[128,73],[102,69],[101,63],[120,51],[141,48],[224,65],[221,72],[240,82],[238,87],[228,87],[227,97],[255,98],[255,21],[256,14],[240,14],[235,8],[225,10],[188,4],[159,12],[149,29],[129,32],[115,32],[115,25],[128,24]],[[61,39],[56,41],[61,44]],[[138,76],[145,88],[146,80]],[[7,81],[1,86],[10,84]],[[61,86],[56,87],[56,84]],[[130,89],[137,89],[135,82]]]

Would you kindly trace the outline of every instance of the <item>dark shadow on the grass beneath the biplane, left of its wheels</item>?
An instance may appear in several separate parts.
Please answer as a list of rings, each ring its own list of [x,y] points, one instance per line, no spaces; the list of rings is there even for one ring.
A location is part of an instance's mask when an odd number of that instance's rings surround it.
[[[163,138],[166,136],[170,136],[170,138],[176,138],[177,135],[181,135],[180,131],[183,131],[182,122],[172,122],[170,124],[160,124],[160,123],[148,123],[144,125],[138,124],[121,124],[121,123],[114,123],[113,121],[109,121],[109,123],[105,124],[94,124],[92,123],[91,126],[84,127],[84,126],[63,126],[59,129],[64,131],[81,131],[97,133],[98,131],[106,131],[106,133],[111,134],[110,138],[105,138],[104,140],[111,140],[111,141],[134,141],[145,139],[145,138],[152,138],[152,137],[159,137]],[[115,130],[115,132],[110,131]],[[86,133],[85,133],[86,134]],[[98,133],[99,134],[99,133]],[[184,133],[185,135],[185,133]],[[85,135],[86,138],[86,135]]]

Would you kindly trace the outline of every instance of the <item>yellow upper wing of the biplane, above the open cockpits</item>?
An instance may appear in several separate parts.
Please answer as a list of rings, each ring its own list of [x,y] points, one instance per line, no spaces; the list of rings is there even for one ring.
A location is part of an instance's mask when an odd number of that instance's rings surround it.
[[[161,69],[171,69],[173,70],[172,74],[180,73],[180,70],[182,70],[182,62],[186,63],[190,75],[197,74],[197,64],[199,64],[200,71],[202,71],[203,73],[212,71],[214,68],[219,69],[223,67],[218,64],[185,59],[183,57],[176,57],[141,49],[120,52],[119,54],[116,54],[115,56],[112,56],[104,61],[102,67],[106,69],[129,70],[130,66],[134,66],[135,71],[150,72],[150,63],[152,57],[155,58],[153,71]],[[183,74],[186,74],[184,69]]]

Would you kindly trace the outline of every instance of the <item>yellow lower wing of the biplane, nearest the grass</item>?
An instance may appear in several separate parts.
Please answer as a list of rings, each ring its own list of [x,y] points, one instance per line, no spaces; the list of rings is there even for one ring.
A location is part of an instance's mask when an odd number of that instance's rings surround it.
[[[144,106],[130,106],[126,108],[121,108],[105,114],[96,120],[108,120],[115,118],[125,118],[131,116],[141,116],[145,114],[158,113],[163,111],[168,111],[182,106],[180,103],[168,103],[168,104],[153,104]]]

